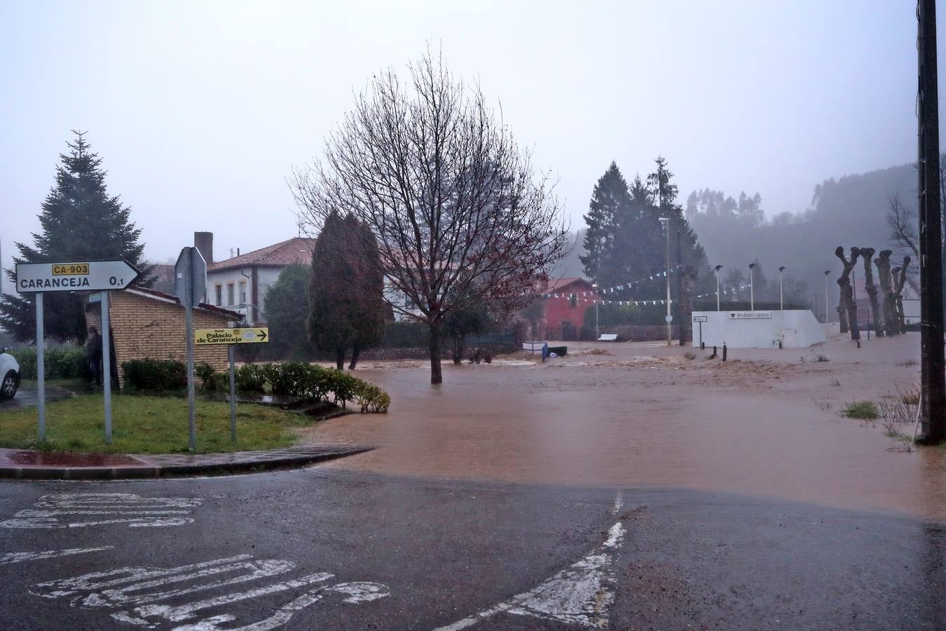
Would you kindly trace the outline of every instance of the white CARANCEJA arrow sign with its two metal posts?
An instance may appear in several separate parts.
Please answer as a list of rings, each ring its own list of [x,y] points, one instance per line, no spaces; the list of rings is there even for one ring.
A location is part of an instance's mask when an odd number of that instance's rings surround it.
[[[40,440],[46,435],[46,374],[43,294],[46,291],[101,291],[102,359],[105,362],[105,442],[112,442],[112,363],[109,345],[109,289],[125,289],[141,272],[125,260],[17,263],[16,289],[36,294],[36,391]]]

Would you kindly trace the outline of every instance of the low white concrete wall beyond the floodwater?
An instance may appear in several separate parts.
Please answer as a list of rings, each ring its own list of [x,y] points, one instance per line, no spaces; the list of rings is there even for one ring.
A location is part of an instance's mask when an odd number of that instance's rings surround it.
[[[767,317],[765,317],[767,316]],[[824,325],[808,309],[780,311],[693,311],[693,346],[700,345],[700,323],[707,346],[730,348],[807,348],[825,341]]]

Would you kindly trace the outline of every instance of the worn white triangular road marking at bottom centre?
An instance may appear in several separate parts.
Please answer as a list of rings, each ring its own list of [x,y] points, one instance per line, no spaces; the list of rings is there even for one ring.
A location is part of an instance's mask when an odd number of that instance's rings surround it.
[[[567,570],[508,601],[435,631],[459,631],[499,613],[603,627],[607,624],[607,608],[614,602],[612,551],[621,547],[625,533],[623,524],[615,523],[601,548],[589,552]]]

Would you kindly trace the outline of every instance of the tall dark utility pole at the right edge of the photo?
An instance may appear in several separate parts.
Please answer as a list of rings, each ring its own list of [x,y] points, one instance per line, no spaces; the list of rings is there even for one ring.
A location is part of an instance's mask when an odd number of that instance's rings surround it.
[[[937,3],[917,4],[918,158],[920,192],[920,435],[946,440],[946,359],[943,356],[942,226],[939,200],[939,104],[937,98]]]

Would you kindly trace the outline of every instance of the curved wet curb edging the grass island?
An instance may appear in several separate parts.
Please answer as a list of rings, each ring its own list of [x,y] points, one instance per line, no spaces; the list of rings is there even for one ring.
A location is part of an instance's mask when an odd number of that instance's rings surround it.
[[[375,447],[340,448],[321,453],[300,454],[267,459],[247,459],[234,463],[194,463],[143,466],[0,466],[0,479],[12,480],[141,480],[196,475],[254,473],[353,456]]]

